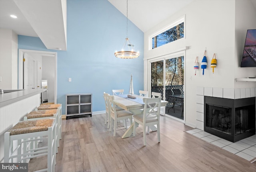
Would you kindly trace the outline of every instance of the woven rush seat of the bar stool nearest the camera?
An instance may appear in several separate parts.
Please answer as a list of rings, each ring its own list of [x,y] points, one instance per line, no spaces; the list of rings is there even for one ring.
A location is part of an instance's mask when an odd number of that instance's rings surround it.
[[[38,131],[47,131],[52,127],[54,119],[38,119],[34,121],[22,121],[14,125],[9,132],[10,135],[33,133]]]

